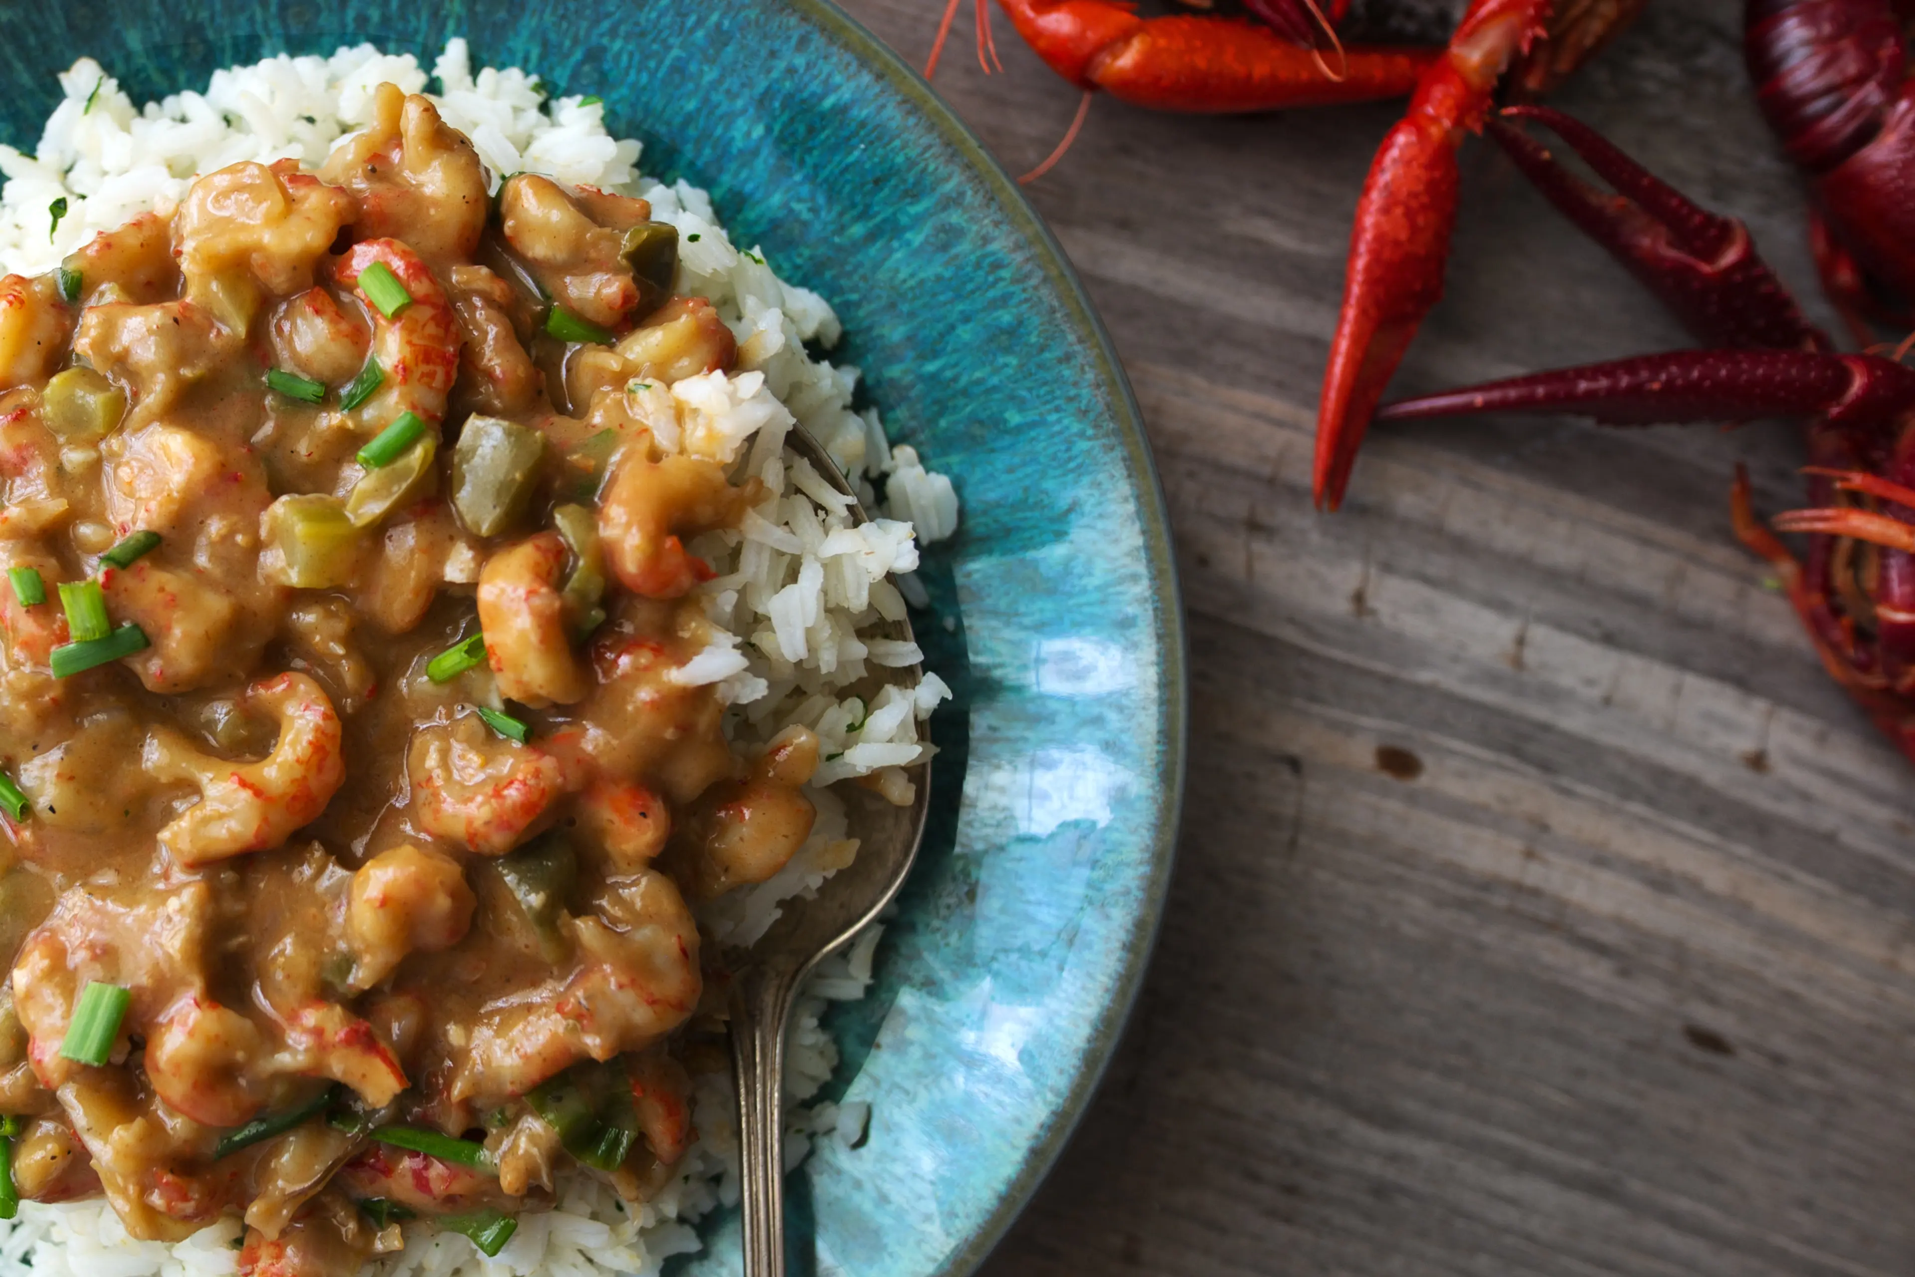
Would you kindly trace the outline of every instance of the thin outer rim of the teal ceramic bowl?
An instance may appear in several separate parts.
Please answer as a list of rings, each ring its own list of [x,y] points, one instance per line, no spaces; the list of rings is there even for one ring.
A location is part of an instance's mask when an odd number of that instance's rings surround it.
[[[1153,592],[1153,620],[1162,645],[1159,705],[1162,706],[1160,722],[1164,729],[1160,777],[1164,779],[1166,793],[1157,827],[1151,833],[1153,858],[1149,879],[1143,885],[1141,909],[1147,917],[1139,919],[1143,927],[1138,929],[1134,942],[1126,950],[1124,969],[1116,978],[1116,994],[1099,1017],[1093,1045],[1086,1053],[1088,1066],[1072,1080],[1049,1128],[1028,1149],[1023,1166],[1005,1187],[990,1216],[944,1262],[940,1273],[958,1277],[959,1273],[977,1271],[984,1258],[1003,1241],[1011,1223],[1030,1204],[1038,1185],[1057,1164],[1057,1156],[1084,1120],[1092,1097],[1103,1084],[1124,1026],[1138,1005],[1138,994],[1143,988],[1143,976],[1149,971],[1151,955],[1157,950],[1157,936],[1162,930],[1164,900],[1170,888],[1170,871],[1176,862],[1178,831],[1183,816],[1183,781],[1189,760],[1189,630],[1183,616],[1183,590],[1178,580],[1176,553],[1172,551],[1170,511],[1157,461],[1151,456],[1149,437],[1143,429],[1143,410],[1138,406],[1130,377],[1116,356],[1116,345],[1111,341],[1103,320],[1097,318],[1097,310],[1092,306],[1084,283],[1078,280],[1076,268],[1065,255],[1063,245],[998,157],[990,153],[982,138],[938,98],[931,82],[904,61],[896,50],[833,0],[785,0],[785,4],[800,21],[808,21],[885,77],[892,92],[913,105],[944,142],[969,161],[980,180],[982,193],[996,201],[1005,220],[1025,237],[1032,249],[1032,257],[1057,289],[1067,312],[1093,337],[1092,348],[1097,375],[1105,383],[1118,438],[1124,444],[1132,486],[1138,494],[1138,513],[1147,555],[1145,567],[1157,584]]]

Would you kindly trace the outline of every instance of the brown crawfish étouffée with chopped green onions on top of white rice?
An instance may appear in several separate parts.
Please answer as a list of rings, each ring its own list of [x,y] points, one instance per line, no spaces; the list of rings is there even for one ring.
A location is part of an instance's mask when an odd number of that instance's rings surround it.
[[[735,756],[672,680],[686,542],[753,490],[632,391],[735,352],[649,213],[494,197],[387,84],[318,174],[222,168],[0,283],[19,1197],[243,1214],[243,1271],[331,1277],[684,1154],[686,898],[791,858],[818,745]]]

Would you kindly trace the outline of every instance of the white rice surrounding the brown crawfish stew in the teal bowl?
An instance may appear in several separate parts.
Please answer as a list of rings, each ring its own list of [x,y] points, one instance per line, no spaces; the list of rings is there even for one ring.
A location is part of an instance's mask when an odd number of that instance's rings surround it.
[[[732,373],[687,377],[672,387],[632,387],[634,406],[655,423],[661,446],[682,448],[755,475],[766,500],[735,532],[693,542],[718,572],[703,590],[714,641],[676,672],[689,685],[716,683],[733,706],[733,739],[770,739],[806,724],[823,743],[825,764],[812,787],[818,823],[810,840],[768,883],[733,892],[703,913],[710,934],[749,944],[783,902],[802,898],[850,863],[845,808],[825,785],[871,775],[904,798],[902,768],[929,758],[921,724],[950,695],[936,674],[913,687],[885,685],[866,703],[846,689],[871,672],[917,662],[915,643],[881,638],[904,605],[923,605],[912,576],[917,546],[950,536],[958,496],[950,479],[927,471],[912,448],[890,448],[875,410],[854,412],[858,370],[816,360],[806,343],[829,348],[839,322],[816,293],[779,280],[758,249],[732,243],[710,197],[684,182],[661,186],[638,172],[640,144],[605,132],[603,107],[582,98],[548,100],[519,69],[471,71],[465,40],[450,40],[433,65],[435,100],[463,130],[494,174],[542,172],[561,182],[642,195],[653,216],[680,230],[678,291],[712,301],[739,341]],[[149,209],[167,211],[193,176],[237,161],[295,157],[318,167],[372,115],[372,90],[393,80],[408,92],[429,86],[408,56],[370,44],[331,57],[268,57],[216,71],[203,94],[182,92],[134,107],[100,63],[82,57],[59,77],[65,100],[46,123],[34,155],[0,146],[0,268],[40,274],[86,243]],[[54,201],[65,214],[52,216]],[[783,442],[802,423],[858,490],[873,523],[852,526],[848,502]],[[879,504],[873,481],[883,479]],[[871,980],[879,929],[829,959],[793,1019],[785,1095],[787,1160],[804,1160],[814,1139],[856,1147],[866,1105],[804,1110],[837,1066],[837,1047],[820,1028],[827,1001],[858,999]],[[519,1231],[486,1260],[463,1237],[408,1225],[402,1256],[375,1266],[381,1277],[609,1277],[655,1273],[668,1256],[699,1246],[691,1221],[737,1200],[737,1122],[730,1078],[697,1080],[697,1145],[680,1176],[651,1202],[628,1208],[597,1181],[561,1185],[557,1210],[527,1214]],[[213,1277],[234,1273],[239,1227],[226,1221],[169,1246],[126,1237],[101,1202],[27,1202],[0,1223],[0,1277]]]

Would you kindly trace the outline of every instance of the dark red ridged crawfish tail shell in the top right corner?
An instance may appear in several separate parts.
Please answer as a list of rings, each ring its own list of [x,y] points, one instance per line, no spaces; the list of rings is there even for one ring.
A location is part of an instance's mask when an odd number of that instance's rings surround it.
[[[1764,119],[1814,174],[1875,140],[1907,61],[1888,0],[1748,0],[1743,56]]]

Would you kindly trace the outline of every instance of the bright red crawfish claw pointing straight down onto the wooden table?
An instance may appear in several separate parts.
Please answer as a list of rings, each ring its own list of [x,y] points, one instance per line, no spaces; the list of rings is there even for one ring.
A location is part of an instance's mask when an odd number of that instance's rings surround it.
[[[1335,509],[1342,502],[1383,387],[1442,297],[1455,228],[1457,147],[1482,128],[1498,77],[1542,33],[1547,13],[1547,0],[1473,0],[1369,167],[1318,402],[1318,505]]]

